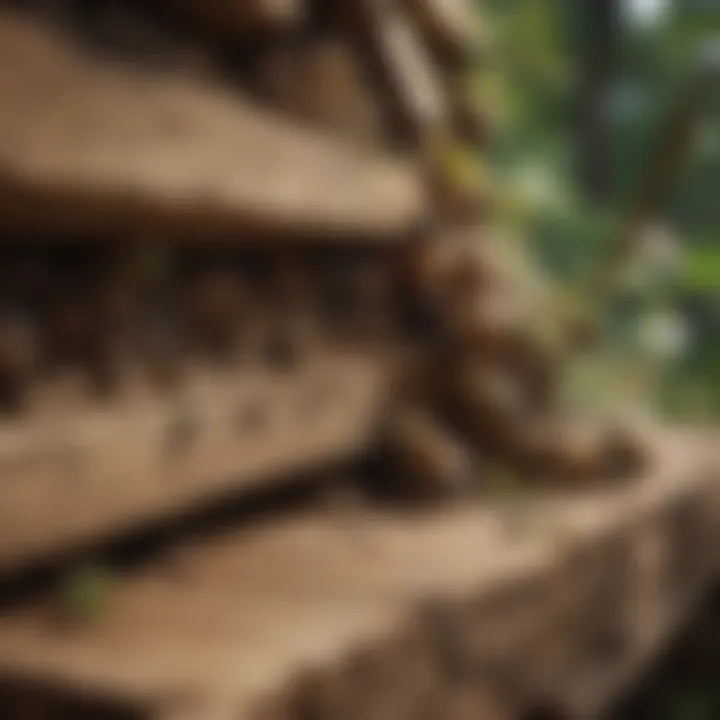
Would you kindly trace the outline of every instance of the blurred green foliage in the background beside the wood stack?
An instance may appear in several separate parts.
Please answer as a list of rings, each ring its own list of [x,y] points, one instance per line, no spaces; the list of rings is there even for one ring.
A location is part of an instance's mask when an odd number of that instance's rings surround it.
[[[477,0],[488,48],[474,81],[499,132],[491,164],[504,202],[500,218],[522,228],[545,269],[582,295],[583,281],[613,237],[698,50],[720,44],[720,2],[667,0],[654,18],[618,0],[615,76],[605,99],[611,137],[611,199],[594,207],[575,177],[575,88],[587,41],[577,0]],[[635,21],[634,21],[635,20]],[[644,22],[640,22],[644,20]],[[720,88],[678,177],[665,219],[683,253],[679,266],[603,308],[611,355],[646,363],[663,378],[654,399],[669,412],[720,417]],[[571,294],[572,296],[572,294]],[[664,372],[641,345],[643,314],[665,312],[688,342]],[[605,360],[597,360],[605,363]],[[652,369],[651,369],[652,368]],[[592,375],[592,373],[586,373]],[[639,374],[642,374],[640,371]]]

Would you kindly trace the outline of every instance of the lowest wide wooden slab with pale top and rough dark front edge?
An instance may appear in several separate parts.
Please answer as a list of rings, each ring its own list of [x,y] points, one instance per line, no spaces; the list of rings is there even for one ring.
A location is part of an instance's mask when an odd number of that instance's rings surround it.
[[[329,703],[321,717],[434,704],[446,718],[468,683],[504,701],[487,717],[547,701],[595,711],[720,563],[715,437],[658,439],[656,466],[624,489],[316,513],[171,553],[127,578],[94,625],[59,629],[42,603],[4,618],[0,667],[124,699],[139,717],[301,717],[304,687]]]

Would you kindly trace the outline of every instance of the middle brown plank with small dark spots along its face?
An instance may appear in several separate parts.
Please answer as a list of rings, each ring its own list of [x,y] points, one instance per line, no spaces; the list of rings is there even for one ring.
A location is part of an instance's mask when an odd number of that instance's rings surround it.
[[[173,396],[139,385],[95,405],[42,392],[0,424],[0,568],[361,452],[390,366],[333,354],[294,373],[198,368]]]

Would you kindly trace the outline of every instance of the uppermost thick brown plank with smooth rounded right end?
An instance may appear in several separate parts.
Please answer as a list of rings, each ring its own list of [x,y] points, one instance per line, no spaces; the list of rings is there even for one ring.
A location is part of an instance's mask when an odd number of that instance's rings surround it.
[[[358,236],[422,215],[412,167],[220,89],[103,66],[5,13],[0,107],[6,228]]]

